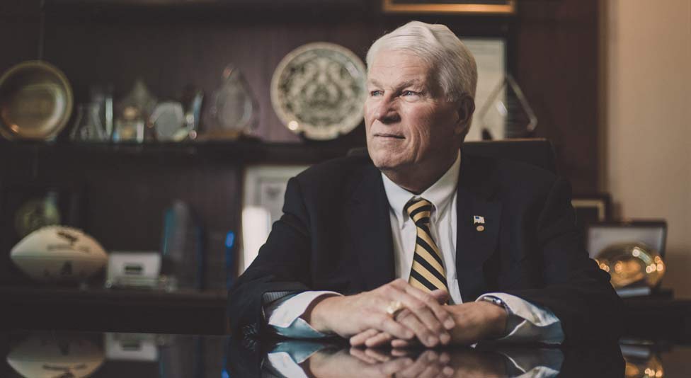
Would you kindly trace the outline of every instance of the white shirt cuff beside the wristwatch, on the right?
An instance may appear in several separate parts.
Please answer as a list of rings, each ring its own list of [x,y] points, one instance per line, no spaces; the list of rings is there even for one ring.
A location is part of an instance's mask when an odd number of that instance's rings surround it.
[[[498,340],[510,342],[537,341],[547,344],[559,344],[564,341],[561,321],[549,309],[536,306],[515,295],[501,292],[482,294],[476,299],[476,302],[481,301],[484,297],[501,299],[508,307],[508,334]]]

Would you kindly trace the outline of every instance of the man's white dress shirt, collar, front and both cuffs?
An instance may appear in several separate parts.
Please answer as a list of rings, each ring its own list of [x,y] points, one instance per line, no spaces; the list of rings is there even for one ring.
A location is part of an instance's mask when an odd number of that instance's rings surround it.
[[[408,280],[416,241],[416,226],[404,210],[404,206],[412,198],[423,197],[433,205],[430,215],[430,232],[442,253],[447,285],[452,304],[462,303],[461,292],[456,276],[456,200],[457,185],[461,166],[460,152],[451,168],[420,195],[414,195],[391,181],[384,173],[384,190],[389,200],[389,217],[391,219],[392,239],[394,242],[394,268],[396,277]],[[482,215],[482,214],[478,214]],[[459,241],[462,243],[463,241]],[[282,336],[297,338],[314,338],[325,336],[314,330],[300,318],[309,304],[324,294],[338,294],[324,291],[302,292],[292,297],[286,297],[274,302],[264,309],[268,324]],[[561,330],[559,319],[549,311],[519,297],[506,293],[482,294],[483,297],[501,299],[508,307],[509,319],[508,335],[501,340],[539,341],[542,343],[561,343],[564,332]]]

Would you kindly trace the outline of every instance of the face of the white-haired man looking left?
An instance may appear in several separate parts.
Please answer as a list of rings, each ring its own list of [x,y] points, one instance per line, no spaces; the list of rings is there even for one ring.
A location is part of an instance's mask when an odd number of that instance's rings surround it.
[[[457,154],[465,125],[433,75],[411,52],[375,56],[367,75],[365,127],[367,150],[377,168],[401,171]]]

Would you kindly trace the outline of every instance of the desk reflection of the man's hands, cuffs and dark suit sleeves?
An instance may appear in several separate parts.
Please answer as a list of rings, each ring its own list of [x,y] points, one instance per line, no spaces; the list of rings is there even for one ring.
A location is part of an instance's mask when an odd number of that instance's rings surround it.
[[[239,349],[231,348],[236,358],[229,359],[230,371],[240,377],[624,377],[617,344],[587,349],[478,345],[375,350],[285,340],[271,345],[261,359],[251,357],[247,345],[235,347]]]

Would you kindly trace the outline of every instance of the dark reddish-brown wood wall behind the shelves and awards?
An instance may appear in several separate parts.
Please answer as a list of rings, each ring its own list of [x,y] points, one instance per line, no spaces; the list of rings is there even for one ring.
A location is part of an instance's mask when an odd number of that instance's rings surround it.
[[[4,71],[38,57],[40,1],[0,3]],[[508,18],[384,15],[379,1],[365,0],[103,3],[47,0],[45,5],[43,57],[67,74],[76,103],[88,101],[93,84],[112,84],[117,99],[139,77],[161,99],[178,98],[186,84],[210,94],[222,69],[233,63],[258,100],[256,133],[268,142],[300,142],[274,114],[269,93],[276,65],[299,45],[335,42],[364,59],[373,40],[410,19],[445,23],[459,35],[507,38],[508,67],[537,113],[537,135],[554,142],[561,174],[576,193],[598,188],[597,0],[520,0],[518,14]],[[364,145],[363,128],[336,144]],[[239,225],[241,165],[228,159],[185,164],[150,155],[22,154],[0,164],[1,181],[72,181],[86,188],[85,228],[107,249],[158,248],[161,212],[176,198],[198,209],[217,234]],[[222,253],[222,246],[213,248]]]

